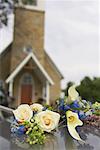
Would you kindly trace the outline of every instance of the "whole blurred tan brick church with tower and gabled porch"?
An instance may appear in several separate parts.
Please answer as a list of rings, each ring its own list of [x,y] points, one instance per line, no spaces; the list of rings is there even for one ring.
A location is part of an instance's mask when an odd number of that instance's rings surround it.
[[[9,17],[12,40],[0,53],[0,80],[15,98],[13,107],[40,98],[50,104],[60,96],[63,76],[44,49],[45,0],[20,2]]]

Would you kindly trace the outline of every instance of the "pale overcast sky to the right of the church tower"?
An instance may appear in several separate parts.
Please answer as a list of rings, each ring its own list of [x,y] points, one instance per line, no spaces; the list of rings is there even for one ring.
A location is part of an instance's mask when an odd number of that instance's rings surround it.
[[[99,76],[99,0],[47,0],[45,48],[68,81]]]

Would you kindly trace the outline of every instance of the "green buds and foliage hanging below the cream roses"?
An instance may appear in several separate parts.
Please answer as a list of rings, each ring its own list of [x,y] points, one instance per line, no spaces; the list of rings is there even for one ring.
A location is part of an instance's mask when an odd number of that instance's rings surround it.
[[[35,122],[34,119],[31,119],[30,122],[25,122],[25,127],[27,128],[27,140],[30,145],[33,144],[43,144],[46,136],[44,131],[39,127],[39,125]]]

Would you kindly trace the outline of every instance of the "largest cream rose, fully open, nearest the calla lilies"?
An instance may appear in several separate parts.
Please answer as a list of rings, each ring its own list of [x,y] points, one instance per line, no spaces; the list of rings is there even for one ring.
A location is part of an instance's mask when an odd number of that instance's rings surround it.
[[[35,120],[43,131],[51,132],[58,126],[60,115],[56,112],[46,110],[36,114]]]

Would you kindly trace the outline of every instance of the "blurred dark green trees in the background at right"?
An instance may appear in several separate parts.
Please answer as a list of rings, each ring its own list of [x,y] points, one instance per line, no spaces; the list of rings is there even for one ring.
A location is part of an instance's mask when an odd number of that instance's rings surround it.
[[[65,91],[69,88],[69,83],[73,82],[68,82]],[[86,76],[80,82],[80,85],[76,87],[76,89],[82,99],[86,99],[87,101],[90,101],[92,103],[96,101],[100,102],[100,78],[94,77],[93,79],[91,79],[90,77]]]

